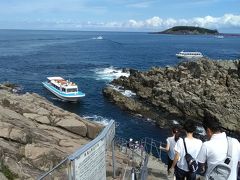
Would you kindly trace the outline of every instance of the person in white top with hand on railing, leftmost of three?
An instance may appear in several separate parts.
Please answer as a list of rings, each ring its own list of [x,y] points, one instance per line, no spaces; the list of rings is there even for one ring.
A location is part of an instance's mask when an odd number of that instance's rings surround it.
[[[167,169],[168,174],[170,173],[169,169],[172,166],[173,159],[175,156],[174,147],[175,147],[176,142],[178,141],[179,137],[180,137],[179,128],[177,126],[174,126],[174,127],[172,127],[172,136],[168,137],[166,139],[166,141],[167,141],[166,147],[160,146],[161,150],[164,150],[168,153],[168,169]]]

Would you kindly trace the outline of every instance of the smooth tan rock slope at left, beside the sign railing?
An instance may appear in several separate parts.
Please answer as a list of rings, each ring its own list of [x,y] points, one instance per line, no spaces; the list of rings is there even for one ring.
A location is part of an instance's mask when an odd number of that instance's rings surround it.
[[[0,85],[0,179],[36,179],[102,129],[37,94],[11,90]]]

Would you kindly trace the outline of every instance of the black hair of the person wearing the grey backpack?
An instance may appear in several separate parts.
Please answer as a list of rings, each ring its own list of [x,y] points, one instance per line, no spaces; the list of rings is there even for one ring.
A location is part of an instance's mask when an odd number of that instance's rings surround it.
[[[215,117],[211,117],[208,115],[204,116],[202,125],[205,131],[207,130],[207,128],[209,128],[213,133],[221,132],[222,130],[221,123],[219,122],[219,120],[216,119]]]

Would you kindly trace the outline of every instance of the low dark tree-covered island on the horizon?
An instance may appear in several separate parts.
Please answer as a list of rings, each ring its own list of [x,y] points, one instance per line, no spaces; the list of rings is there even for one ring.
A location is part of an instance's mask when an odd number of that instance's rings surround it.
[[[218,35],[217,30],[206,29],[194,26],[175,26],[170,29],[157,32],[156,34],[177,34],[177,35]]]

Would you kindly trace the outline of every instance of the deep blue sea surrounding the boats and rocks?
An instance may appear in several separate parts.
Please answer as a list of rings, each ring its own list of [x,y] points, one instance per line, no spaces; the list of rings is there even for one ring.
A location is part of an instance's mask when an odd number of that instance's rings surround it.
[[[102,38],[98,38],[101,36]],[[0,83],[12,82],[23,92],[46,97],[56,106],[107,124],[117,122],[117,135],[165,141],[169,131],[151,119],[121,110],[102,95],[102,88],[124,75],[123,68],[146,71],[176,65],[181,50],[201,51],[213,59],[240,58],[240,38],[157,35],[133,32],[0,30]],[[79,85],[86,96],[78,103],[63,102],[42,82],[62,76]]]

